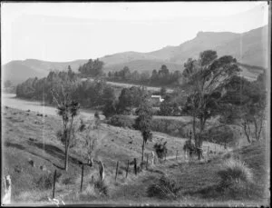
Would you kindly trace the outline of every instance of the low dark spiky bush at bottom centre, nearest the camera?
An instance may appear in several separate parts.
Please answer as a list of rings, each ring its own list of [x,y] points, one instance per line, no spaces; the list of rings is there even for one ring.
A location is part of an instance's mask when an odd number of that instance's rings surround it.
[[[161,176],[158,183],[152,183],[147,190],[148,196],[158,198],[176,199],[180,193],[180,185],[168,176]]]

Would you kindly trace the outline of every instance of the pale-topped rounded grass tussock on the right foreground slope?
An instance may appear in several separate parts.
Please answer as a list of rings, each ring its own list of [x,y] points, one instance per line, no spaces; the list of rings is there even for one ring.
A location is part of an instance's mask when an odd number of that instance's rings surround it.
[[[223,169],[219,171],[221,185],[229,186],[233,183],[252,183],[253,173],[248,166],[240,160],[230,158],[223,163]]]

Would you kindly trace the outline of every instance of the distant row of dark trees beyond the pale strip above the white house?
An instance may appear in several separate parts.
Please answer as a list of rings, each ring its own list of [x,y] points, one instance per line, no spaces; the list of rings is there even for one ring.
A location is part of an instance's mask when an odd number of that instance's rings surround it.
[[[109,72],[107,79],[109,81],[121,81],[132,84],[147,84],[147,85],[175,85],[180,82],[180,71],[170,72],[165,64],[161,65],[160,70],[154,69],[152,74],[148,72],[131,72],[128,66],[116,72]]]

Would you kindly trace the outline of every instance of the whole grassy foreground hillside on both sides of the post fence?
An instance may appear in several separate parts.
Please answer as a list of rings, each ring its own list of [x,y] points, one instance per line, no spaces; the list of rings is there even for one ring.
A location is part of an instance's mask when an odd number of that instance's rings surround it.
[[[79,123],[77,118],[76,124]],[[57,170],[60,177],[56,183],[56,198],[62,198],[64,203],[155,203],[155,204],[189,204],[189,203],[220,203],[232,202],[227,196],[203,193],[205,188],[213,187],[219,181],[217,170],[222,162],[222,155],[226,151],[217,144],[204,143],[210,149],[217,149],[217,154],[212,154],[204,161],[185,163],[182,147],[185,138],[173,137],[168,134],[153,133],[153,141],[146,146],[145,153],[151,154],[153,145],[163,138],[167,141],[169,149],[167,160],[157,163],[138,175],[132,173],[130,165],[129,176],[125,177],[127,161],[133,158],[141,159],[141,134],[138,131],[102,124],[99,128],[99,144],[94,154],[95,159],[102,159],[105,163],[105,181],[109,187],[109,197],[92,194],[89,183],[92,175],[98,177],[97,166],[84,168],[83,193],[80,193],[81,163],[85,163],[85,150],[81,145],[71,149],[69,158],[69,171],[63,171],[64,148],[57,139],[56,132],[62,128],[59,117],[47,115],[38,116],[34,112],[19,111],[12,108],[2,108],[2,170],[3,174],[10,174],[12,178],[12,203],[49,203],[52,197],[52,173]],[[78,133],[80,141],[83,133]],[[238,150],[243,160],[255,170],[258,190],[266,183],[264,178],[267,173],[267,163],[263,158],[266,150],[263,144],[246,147]],[[247,149],[248,148],[248,149]],[[176,160],[176,153],[179,158]],[[205,151],[205,150],[204,150]],[[204,153],[206,156],[206,153]],[[209,159],[209,160],[208,160]],[[29,161],[34,161],[34,166]],[[115,181],[115,165],[119,161],[120,171]],[[41,170],[43,166],[43,170]],[[176,178],[182,185],[181,195],[177,200],[168,201],[149,197],[146,189],[151,183],[156,183],[160,175],[168,174]],[[43,180],[45,179],[45,183]],[[48,184],[47,184],[48,183]],[[47,184],[47,185],[46,185]],[[265,186],[264,186],[265,187]],[[2,184],[3,188],[3,184]],[[2,192],[3,193],[3,192]],[[261,193],[259,191],[259,193]],[[264,200],[257,194],[257,199]],[[244,199],[243,199],[244,200]],[[246,200],[246,199],[245,199]],[[247,199],[248,200],[248,199]],[[233,201],[234,203],[240,201]],[[250,202],[249,202],[250,203]]]

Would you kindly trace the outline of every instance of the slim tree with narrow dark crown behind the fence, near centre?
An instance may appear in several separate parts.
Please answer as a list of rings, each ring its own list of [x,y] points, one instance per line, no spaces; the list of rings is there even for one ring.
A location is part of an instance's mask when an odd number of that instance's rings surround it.
[[[141,146],[141,163],[143,163],[143,155],[145,144],[147,141],[152,140],[151,133],[151,122],[152,122],[152,107],[147,99],[144,99],[140,104],[139,108],[136,110],[138,117],[135,121],[136,129],[141,131],[142,135],[142,146]]]

